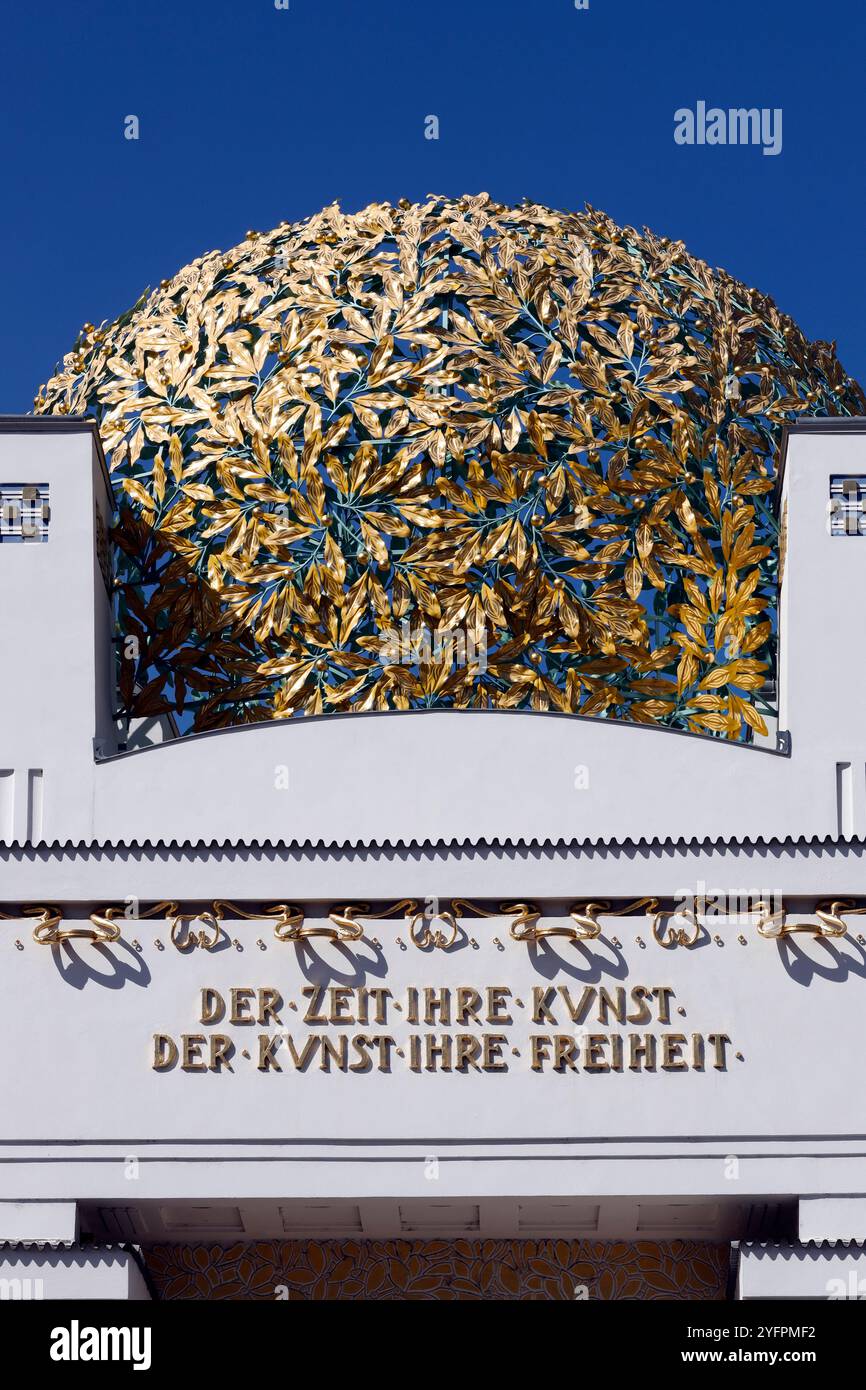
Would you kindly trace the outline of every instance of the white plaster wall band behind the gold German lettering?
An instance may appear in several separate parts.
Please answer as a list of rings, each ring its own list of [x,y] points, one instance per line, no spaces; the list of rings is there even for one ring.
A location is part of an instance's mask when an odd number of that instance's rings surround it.
[[[626,1141],[642,1152],[664,1143],[683,1152],[695,1141],[717,1140],[728,1154],[738,1152],[741,1141],[791,1141],[808,1151],[812,1138],[858,1136],[863,1147],[862,947],[845,940],[828,951],[824,942],[801,937],[790,951],[752,933],[742,933],[742,944],[734,924],[716,933],[721,944],[705,933],[694,949],[664,949],[652,940],[646,919],[602,915],[602,922],[605,935],[596,942],[552,940],[527,947],[509,938],[506,919],[464,919],[452,951],[418,949],[399,922],[370,923],[357,944],[318,940],[295,947],[274,941],[265,923],[229,920],[217,951],[189,954],[170,944],[161,923],[136,924],[114,947],[68,942],[49,948],[26,941],[17,951],[10,942],[0,1049],[14,1065],[0,1076],[0,1141],[122,1141],[135,1151],[145,1140],[524,1144],[569,1138]],[[302,990],[316,983],[386,987],[402,1009],[389,1004],[385,1024],[307,1027]],[[587,1020],[575,1023],[562,995],[555,1004],[556,1026],[531,1022],[534,987],[566,986],[577,1001],[584,987],[624,986],[628,991],[638,984],[673,991],[670,1023],[605,1024],[594,1012],[595,1001]],[[227,999],[232,987],[279,990],[279,1024],[202,1024],[206,986]],[[410,1027],[409,986],[506,987],[513,1023]],[[626,1066],[623,1073],[589,1074],[580,1063],[577,1073],[530,1069],[530,1034],[574,1036],[578,1030],[687,1037],[717,1031],[731,1041],[724,1070],[713,1068],[709,1042],[703,1072],[666,1072],[660,1056],[653,1073]],[[228,1034],[236,1045],[232,1072],[152,1070],[156,1031],[178,1041],[182,1033]],[[300,1072],[281,1042],[274,1055],[285,1069],[257,1070],[260,1033],[284,1037],[286,1031],[297,1048],[310,1031],[389,1034],[406,1056],[392,1055],[389,1074],[375,1069],[325,1073],[318,1056]],[[507,1072],[411,1072],[409,1036],[442,1031],[502,1034]],[[243,1048],[249,1059],[240,1055]],[[688,1048],[683,1051],[688,1056]],[[610,1056],[609,1051],[603,1055]],[[716,1176],[719,1190],[730,1191],[721,1163]]]

